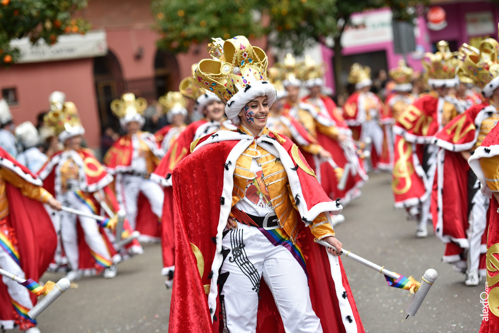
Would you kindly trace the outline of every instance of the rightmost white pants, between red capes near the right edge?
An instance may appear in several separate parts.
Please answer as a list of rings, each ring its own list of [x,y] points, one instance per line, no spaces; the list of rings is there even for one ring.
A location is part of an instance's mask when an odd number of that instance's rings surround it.
[[[487,210],[489,209],[490,199],[480,191],[480,183],[477,180],[476,193],[471,201],[472,209],[468,217],[470,224],[468,229],[468,240],[470,249],[468,250],[468,272],[479,270],[480,254],[482,250],[482,236],[487,227]],[[494,213],[494,212],[493,212]],[[484,249],[484,252],[486,249]]]

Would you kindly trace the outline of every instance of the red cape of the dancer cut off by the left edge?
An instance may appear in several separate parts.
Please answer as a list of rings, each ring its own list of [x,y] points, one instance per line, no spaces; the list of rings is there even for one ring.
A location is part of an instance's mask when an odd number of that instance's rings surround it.
[[[37,180],[29,182],[41,184],[35,175],[31,174],[26,167],[18,164],[1,148],[0,160],[0,167],[6,167],[18,175],[24,174],[26,178]],[[6,166],[6,164],[14,167]],[[40,202],[23,196],[19,189],[8,182],[5,182],[5,192],[9,204],[10,223],[17,239],[20,267],[24,271],[25,279],[39,282],[40,277],[52,261],[57,246],[57,235],[52,221]],[[29,294],[33,305],[36,304],[34,294],[31,292]],[[0,320],[15,319],[16,313],[10,302],[7,288],[0,279]]]

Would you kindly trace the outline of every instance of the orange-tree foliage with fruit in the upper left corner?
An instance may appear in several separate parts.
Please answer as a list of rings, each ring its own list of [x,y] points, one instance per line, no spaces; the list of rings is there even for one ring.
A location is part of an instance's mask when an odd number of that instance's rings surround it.
[[[19,56],[9,45],[12,39],[43,39],[51,45],[61,34],[85,33],[89,24],[74,14],[86,5],[87,0],[0,0],[0,66]]]

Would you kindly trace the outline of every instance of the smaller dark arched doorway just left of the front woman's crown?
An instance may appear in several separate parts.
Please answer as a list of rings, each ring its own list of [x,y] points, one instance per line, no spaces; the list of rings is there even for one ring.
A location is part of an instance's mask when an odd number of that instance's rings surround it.
[[[154,73],[156,98],[169,91],[178,91],[180,84],[179,65],[174,54],[158,50],[154,57]]]

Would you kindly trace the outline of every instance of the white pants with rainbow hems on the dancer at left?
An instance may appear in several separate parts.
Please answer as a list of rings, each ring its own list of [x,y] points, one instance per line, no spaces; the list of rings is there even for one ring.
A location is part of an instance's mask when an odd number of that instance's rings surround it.
[[[67,191],[62,194],[62,200],[60,201],[64,206],[92,214],[94,213],[73,191]],[[75,214],[61,211],[60,227],[62,246],[64,247],[67,260],[71,265],[71,270],[76,271],[79,269],[78,234],[76,230],[77,219],[85,234],[85,242],[92,251],[92,256],[95,258],[96,263],[103,268],[111,266],[111,255],[99,232],[97,221],[90,217],[76,216]]]

